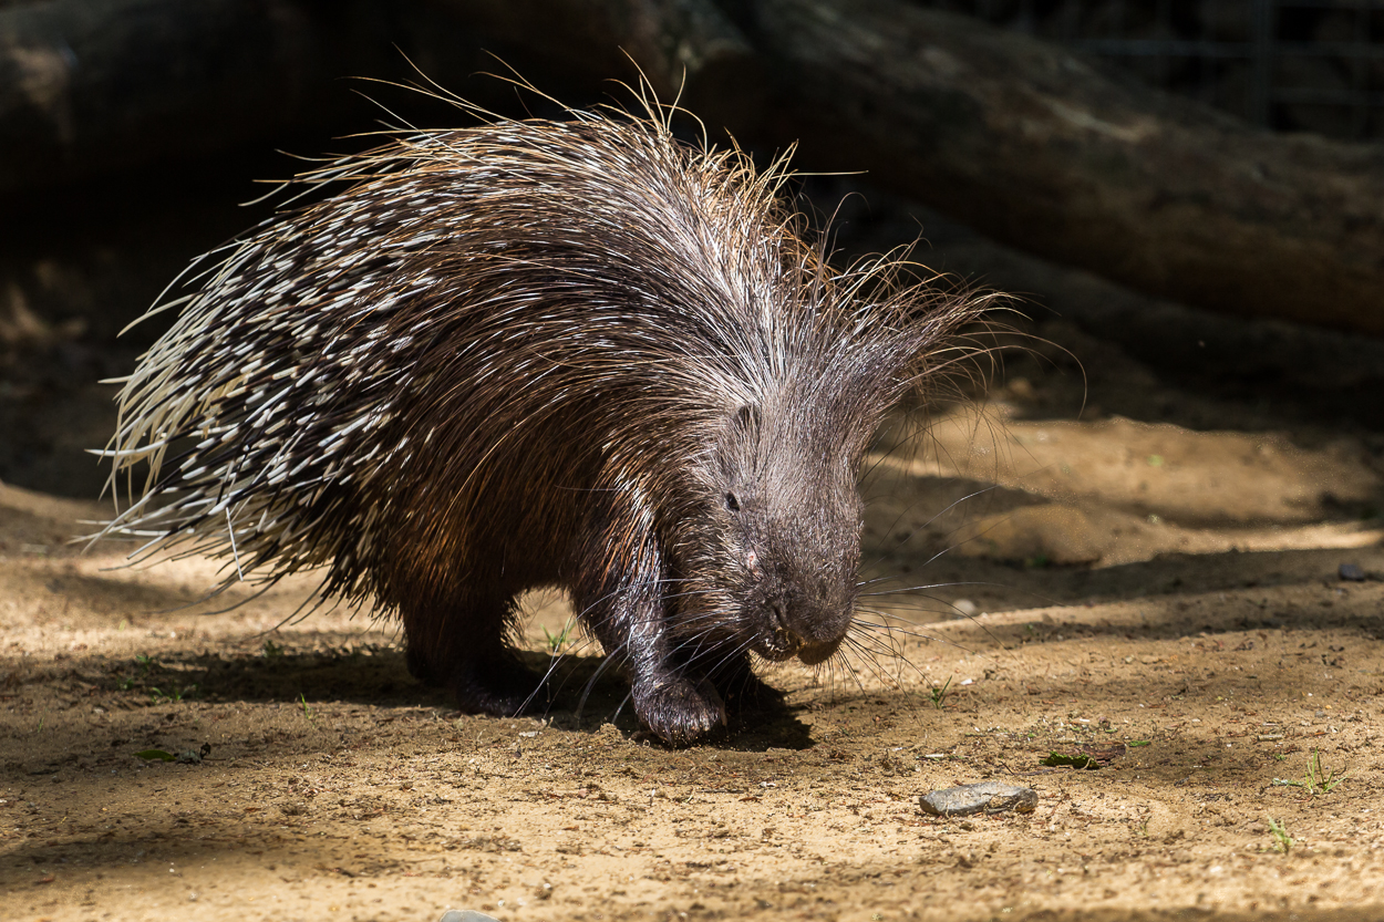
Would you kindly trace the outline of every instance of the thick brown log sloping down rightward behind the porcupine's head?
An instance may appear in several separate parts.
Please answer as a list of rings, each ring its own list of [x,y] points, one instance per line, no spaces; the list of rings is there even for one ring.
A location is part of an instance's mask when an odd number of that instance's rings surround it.
[[[1187,305],[1384,335],[1384,145],[1261,132],[907,3],[743,7],[804,165]]]

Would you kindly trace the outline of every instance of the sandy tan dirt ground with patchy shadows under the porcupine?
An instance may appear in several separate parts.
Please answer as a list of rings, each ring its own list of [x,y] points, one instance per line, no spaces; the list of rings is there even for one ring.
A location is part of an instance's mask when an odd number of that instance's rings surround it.
[[[217,563],[112,569],[66,543],[105,509],[0,487],[0,918],[1384,918],[1374,403],[1308,334],[1178,314],[1208,352],[1160,365],[1073,311],[875,458],[853,655],[686,750],[562,599],[552,709],[465,716],[392,624],[285,623],[311,580],[209,613]],[[1235,371],[1282,342],[1316,364]],[[987,779],[1037,810],[919,808]]]

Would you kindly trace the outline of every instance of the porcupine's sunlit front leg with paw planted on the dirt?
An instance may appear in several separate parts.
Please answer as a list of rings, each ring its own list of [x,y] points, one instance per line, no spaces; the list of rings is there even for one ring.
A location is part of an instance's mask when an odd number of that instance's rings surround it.
[[[624,666],[644,725],[671,746],[686,746],[725,725],[725,703],[704,674],[680,663],[652,540],[644,551],[631,555],[634,568],[592,580],[574,601],[606,655]]]

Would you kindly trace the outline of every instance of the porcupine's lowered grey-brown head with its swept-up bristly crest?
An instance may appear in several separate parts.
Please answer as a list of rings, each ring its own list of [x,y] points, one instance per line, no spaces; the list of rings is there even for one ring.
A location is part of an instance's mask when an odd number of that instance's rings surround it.
[[[980,310],[900,285],[907,269],[891,257],[836,271],[797,233],[772,249],[772,269],[747,273],[761,288],[728,287],[739,320],[721,331],[725,347],[703,343],[706,367],[725,372],[703,390],[722,403],[692,426],[702,443],[685,455],[685,487],[657,503],[677,509],[664,539],[674,627],[713,670],[742,651],[817,665],[840,648],[862,458],[905,393],[970,352],[955,332]]]

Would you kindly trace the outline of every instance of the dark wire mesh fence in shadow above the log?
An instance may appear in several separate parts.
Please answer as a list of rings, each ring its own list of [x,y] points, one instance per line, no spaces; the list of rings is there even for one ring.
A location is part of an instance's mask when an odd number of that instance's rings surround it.
[[[1067,43],[1255,125],[1384,137],[1384,0],[918,0]]]

